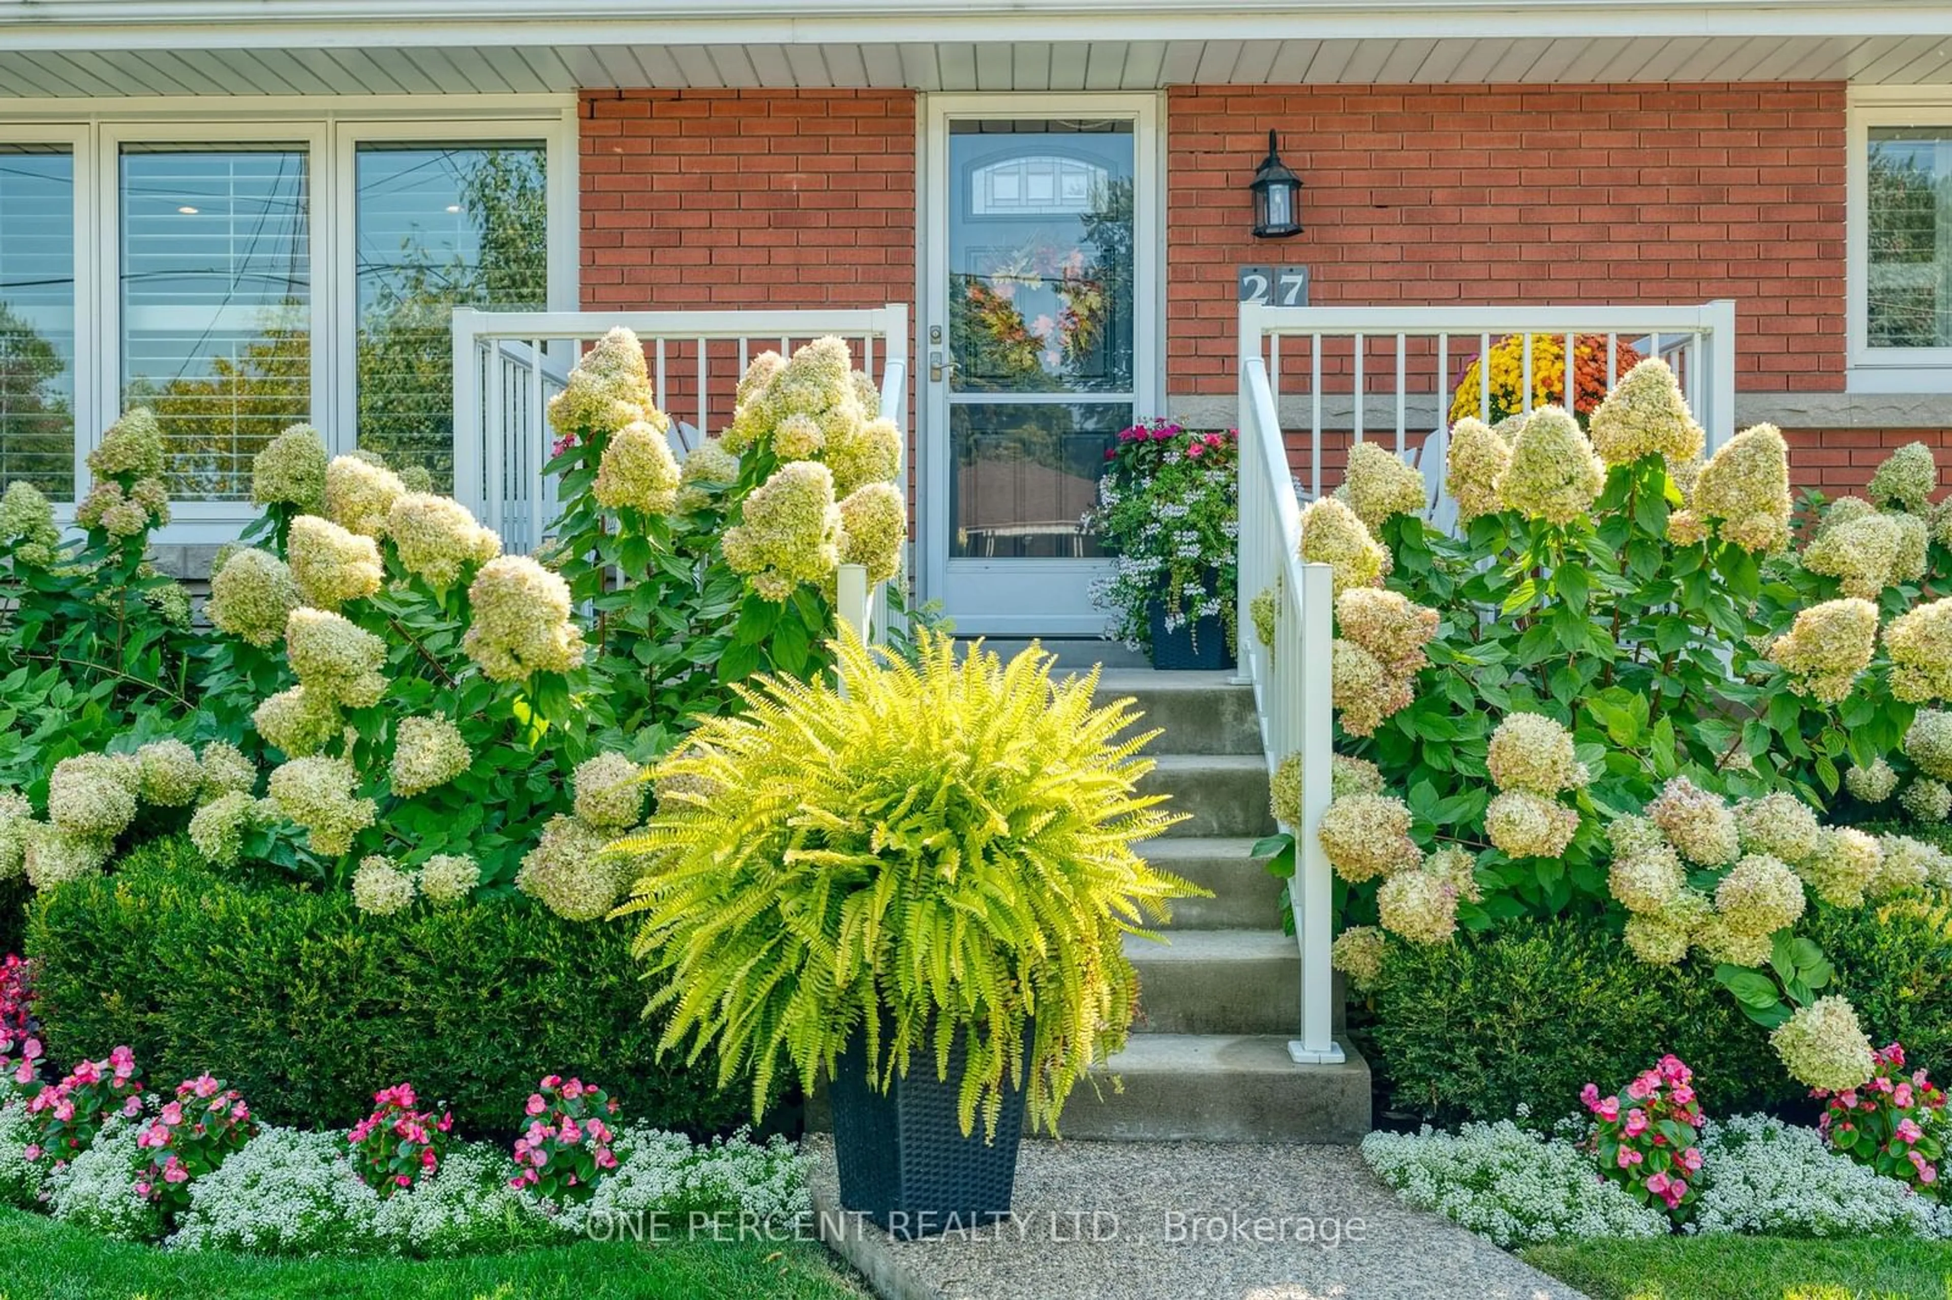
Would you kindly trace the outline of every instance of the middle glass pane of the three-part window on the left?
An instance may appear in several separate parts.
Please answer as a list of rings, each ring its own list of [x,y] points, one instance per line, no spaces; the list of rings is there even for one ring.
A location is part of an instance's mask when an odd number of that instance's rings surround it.
[[[306,152],[121,152],[121,396],[154,408],[180,500],[248,498],[258,451],[310,420]]]

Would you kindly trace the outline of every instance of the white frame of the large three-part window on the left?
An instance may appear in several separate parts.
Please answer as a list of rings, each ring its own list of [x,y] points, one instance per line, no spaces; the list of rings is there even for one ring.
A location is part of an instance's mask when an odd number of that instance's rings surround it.
[[[0,109],[0,144],[74,150],[74,484],[121,402],[121,146],[305,144],[312,211],[310,422],[334,451],[353,445],[357,416],[357,275],[353,160],[367,141],[543,141],[549,185],[549,303],[578,306],[580,113],[576,96],[277,96],[223,105],[187,100],[16,102]],[[57,517],[74,519],[59,502]],[[160,545],[230,541],[256,517],[250,502],[172,502]]]

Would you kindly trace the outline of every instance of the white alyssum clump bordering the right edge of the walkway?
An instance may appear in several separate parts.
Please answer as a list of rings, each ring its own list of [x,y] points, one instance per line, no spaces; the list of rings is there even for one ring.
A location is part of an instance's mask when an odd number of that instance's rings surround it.
[[[1667,1216],[1599,1177],[1571,1142],[1511,1120],[1417,1134],[1376,1130],[1362,1159],[1398,1198],[1482,1232],[1503,1247],[1552,1238],[1661,1238]]]

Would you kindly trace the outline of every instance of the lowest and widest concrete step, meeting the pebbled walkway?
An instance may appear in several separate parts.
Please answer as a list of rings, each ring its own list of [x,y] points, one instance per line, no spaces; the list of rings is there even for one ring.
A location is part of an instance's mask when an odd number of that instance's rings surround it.
[[[1290,1036],[1132,1035],[1072,1091],[1058,1130],[1113,1142],[1361,1142],[1368,1062],[1339,1038],[1343,1064],[1296,1066]]]

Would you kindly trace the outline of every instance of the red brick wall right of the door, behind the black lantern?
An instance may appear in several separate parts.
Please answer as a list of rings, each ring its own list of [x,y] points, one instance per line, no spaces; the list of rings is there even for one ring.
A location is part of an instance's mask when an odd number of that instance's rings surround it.
[[[1281,131],[1306,230],[1255,240]],[[1739,386],[1839,392],[1845,86],[1187,86],[1167,92],[1167,375],[1234,388],[1240,264],[1310,301],[1737,301]]]

